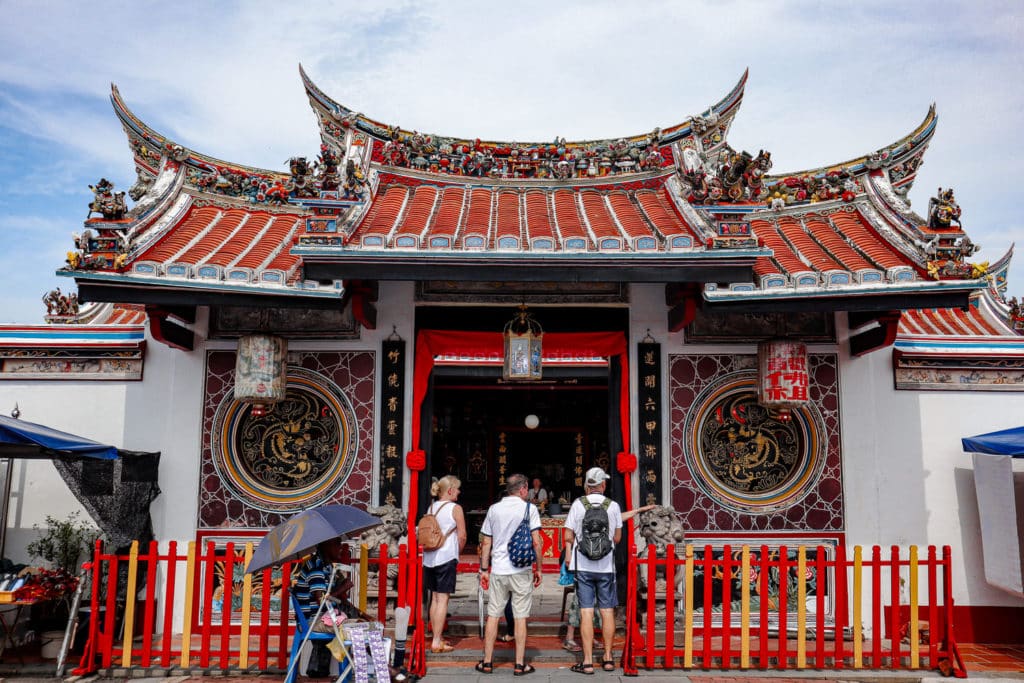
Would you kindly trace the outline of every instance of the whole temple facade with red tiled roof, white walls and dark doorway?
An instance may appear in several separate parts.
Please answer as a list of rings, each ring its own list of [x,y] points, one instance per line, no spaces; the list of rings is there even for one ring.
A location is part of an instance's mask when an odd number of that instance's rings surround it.
[[[959,442],[1024,415],[1024,315],[952,189],[909,205],[934,109],[778,173],[728,142],[745,74],[678,125],[532,143],[380,123],[301,78],[323,143],[283,171],[171,140],[115,88],[131,203],[92,186],[77,295],[0,328],[26,419],[161,452],[157,540],[325,502],[415,518],[445,474],[471,539],[512,472],[555,526],[598,465],[701,545],[951,546],[978,639],[1024,623],[985,581]],[[14,470],[8,556],[61,485],[45,467]]]

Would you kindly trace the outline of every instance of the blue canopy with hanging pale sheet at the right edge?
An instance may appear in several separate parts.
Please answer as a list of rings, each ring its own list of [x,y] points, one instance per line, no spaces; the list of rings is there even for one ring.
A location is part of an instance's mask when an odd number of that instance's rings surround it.
[[[974,460],[985,581],[1024,598],[1024,471],[1014,471],[1014,458],[1024,458],[1024,427],[961,439]],[[1015,484],[1014,479],[1021,483]]]

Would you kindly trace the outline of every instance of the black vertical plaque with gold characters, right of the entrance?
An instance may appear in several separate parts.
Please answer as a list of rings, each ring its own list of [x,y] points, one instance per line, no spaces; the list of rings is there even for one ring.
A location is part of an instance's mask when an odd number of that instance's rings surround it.
[[[662,502],[662,345],[637,344],[639,417],[637,478],[640,505]]]

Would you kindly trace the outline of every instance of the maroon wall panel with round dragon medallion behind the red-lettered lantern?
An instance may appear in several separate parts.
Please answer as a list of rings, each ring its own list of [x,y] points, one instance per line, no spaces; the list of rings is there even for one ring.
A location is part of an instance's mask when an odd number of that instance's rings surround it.
[[[810,401],[758,404],[757,356],[669,359],[672,506],[688,530],[842,531],[835,354],[809,356]]]

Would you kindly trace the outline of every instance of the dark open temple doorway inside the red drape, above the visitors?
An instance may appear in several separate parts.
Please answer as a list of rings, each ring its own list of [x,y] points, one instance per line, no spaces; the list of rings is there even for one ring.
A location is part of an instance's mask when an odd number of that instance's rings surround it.
[[[500,368],[437,368],[430,393],[428,473],[462,480],[466,554],[476,553],[487,507],[509,475],[541,479],[549,494],[542,521],[560,527],[584,472],[610,467],[609,429],[618,425],[617,412],[609,420],[607,368],[545,372],[530,383],[503,382]]]

